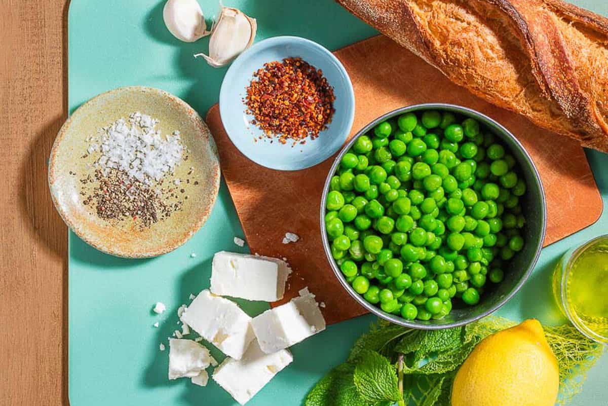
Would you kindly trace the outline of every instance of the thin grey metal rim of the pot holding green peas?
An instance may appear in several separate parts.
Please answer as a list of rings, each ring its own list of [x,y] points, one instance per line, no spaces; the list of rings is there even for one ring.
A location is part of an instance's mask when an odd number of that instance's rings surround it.
[[[363,134],[367,133],[375,125],[377,125],[378,123],[380,123],[384,120],[392,118],[398,114],[402,114],[402,113],[406,113],[406,112],[410,112],[410,111],[420,111],[422,109],[447,110],[447,111],[457,112],[460,114],[468,115],[469,117],[476,117],[478,119],[483,119],[483,120],[487,120],[488,122],[491,122],[492,125],[496,126],[496,128],[499,129],[503,133],[503,135],[505,135],[506,137],[509,137],[515,143],[515,145],[517,145],[517,147],[520,149],[520,151],[523,154],[523,157],[530,164],[530,167],[532,168],[531,174],[533,175],[534,179],[536,179],[536,182],[538,183],[539,188],[541,190],[541,208],[542,208],[542,230],[541,230],[541,236],[540,236],[541,238],[539,238],[539,241],[536,244],[535,251],[534,251],[534,258],[531,261],[531,263],[528,265],[528,268],[525,270],[523,276],[520,278],[520,280],[517,282],[517,284],[513,287],[513,289],[511,289],[511,291],[508,292],[508,294],[504,295],[499,301],[497,301],[497,303],[495,305],[491,306],[489,309],[481,312],[480,314],[474,315],[473,317],[465,318],[463,320],[458,320],[457,322],[453,322],[453,323],[433,324],[432,322],[430,322],[430,323],[423,324],[423,323],[410,322],[397,315],[384,312],[384,311],[382,311],[382,309],[377,308],[374,305],[371,305],[371,303],[368,303],[366,300],[364,300],[364,298],[361,295],[359,295],[357,292],[354,292],[353,287],[350,286],[350,284],[346,281],[346,278],[344,277],[344,275],[342,275],[342,272],[340,271],[340,269],[337,267],[336,261],[334,261],[333,256],[331,256],[330,244],[329,244],[329,240],[327,238],[327,233],[325,232],[325,200],[327,198],[327,194],[329,193],[331,177],[333,177],[334,173],[336,173],[337,166],[339,165],[340,160],[342,160],[342,157],[344,156],[345,153],[347,153],[347,151],[350,149],[351,145],[353,145],[354,141],[356,139],[358,139],[360,136],[362,136]],[[381,116],[377,117],[376,119],[372,120],[370,123],[365,125],[361,130],[356,132],[356,134],[348,141],[348,143],[346,143],[342,147],[342,150],[340,150],[340,153],[336,156],[336,159],[334,160],[334,163],[331,165],[331,168],[325,179],[325,185],[323,185],[323,194],[322,194],[321,203],[320,203],[320,231],[321,231],[321,238],[322,238],[322,242],[323,242],[323,250],[325,250],[325,256],[327,257],[327,260],[329,261],[331,269],[334,271],[336,278],[340,281],[340,284],[342,284],[342,287],[344,287],[344,289],[346,289],[348,294],[350,294],[351,297],[353,297],[354,300],[356,300],[359,303],[359,305],[363,306],[365,309],[367,309],[367,311],[371,312],[372,314],[375,314],[376,316],[381,317],[384,320],[387,320],[396,325],[401,325],[401,326],[409,327],[409,328],[424,329],[424,330],[437,330],[437,329],[446,329],[446,328],[463,326],[463,325],[467,325],[469,323],[475,322],[476,320],[479,320],[480,318],[486,317],[487,315],[492,314],[493,312],[497,311],[499,308],[501,308],[503,305],[505,305],[505,303],[507,301],[511,300],[511,298],[519,291],[519,289],[521,289],[523,284],[530,277],[530,274],[532,273],[532,270],[534,269],[534,266],[536,265],[538,258],[541,255],[542,243],[545,239],[545,232],[547,229],[547,204],[546,204],[545,200],[546,200],[545,199],[545,189],[542,185],[541,176],[538,173],[536,165],[534,165],[534,162],[531,159],[530,154],[528,154],[528,151],[523,147],[522,143],[520,143],[519,140],[517,140],[517,138],[511,133],[511,131],[509,131],[508,129],[505,128],[505,126],[501,125],[499,122],[492,119],[491,117],[488,117],[488,115],[485,115],[482,112],[479,112],[475,109],[471,109],[471,108],[468,108],[465,106],[460,106],[460,105],[453,105],[450,103],[420,103],[420,104],[416,104],[416,105],[404,106],[404,107],[397,108],[392,111],[386,112],[385,114],[382,114]]]

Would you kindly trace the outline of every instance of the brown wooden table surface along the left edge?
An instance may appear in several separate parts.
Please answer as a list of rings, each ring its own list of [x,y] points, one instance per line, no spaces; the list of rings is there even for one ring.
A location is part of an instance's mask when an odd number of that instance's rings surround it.
[[[47,159],[67,117],[69,0],[0,0],[0,405],[67,405],[67,228]]]

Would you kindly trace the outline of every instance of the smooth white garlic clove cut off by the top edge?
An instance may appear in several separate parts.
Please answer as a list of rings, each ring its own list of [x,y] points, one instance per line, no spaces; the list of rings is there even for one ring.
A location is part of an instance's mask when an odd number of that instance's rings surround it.
[[[169,32],[178,40],[193,43],[210,34],[196,0],[168,0],[162,10],[162,18]]]

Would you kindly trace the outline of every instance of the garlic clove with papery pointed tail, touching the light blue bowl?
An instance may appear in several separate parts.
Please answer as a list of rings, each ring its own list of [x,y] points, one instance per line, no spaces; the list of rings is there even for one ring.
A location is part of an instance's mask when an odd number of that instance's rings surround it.
[[[213,67],[224,66],[254,43],[258,24],[241,10],[221,5],[219,18],[213,24],[209,55],[197,53]]]

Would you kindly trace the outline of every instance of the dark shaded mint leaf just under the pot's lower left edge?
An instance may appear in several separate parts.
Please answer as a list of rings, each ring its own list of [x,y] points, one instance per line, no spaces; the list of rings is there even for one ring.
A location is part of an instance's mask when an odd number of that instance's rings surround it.
[[[406,335],[414,334],[418,330],[393,325],[381,321],[378,325],[372,325],[371,330],[359,337],[350,351],[349,361],[356,360],[364,349],[376,351],[376,353],[388,355],[393,351],[398,339]]]

